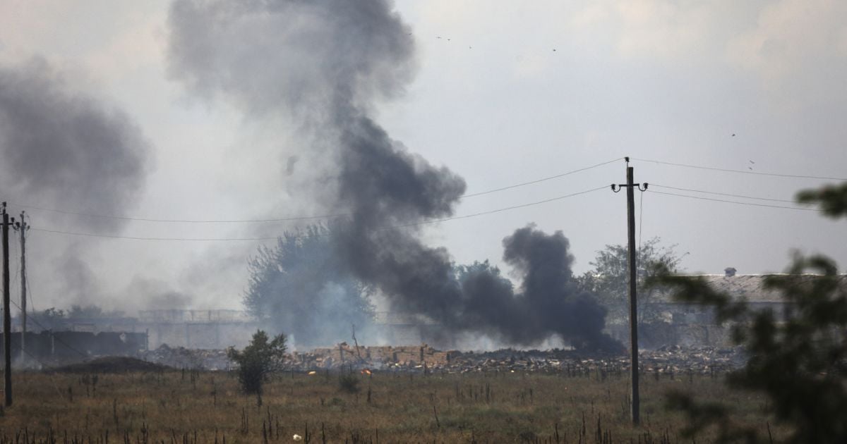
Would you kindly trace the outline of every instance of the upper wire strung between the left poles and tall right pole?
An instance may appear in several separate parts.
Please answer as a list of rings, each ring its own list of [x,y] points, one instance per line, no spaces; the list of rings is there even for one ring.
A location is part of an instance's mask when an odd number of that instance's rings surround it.
[[[497,189],[488,189],[486,191],[480,191],[479,193],[471,193],[466,195],[459,196],[459,199],[464,199],[468,197],[475,197],[479,195],[489,195],[491,193],[496,193],[498,191],[504,191],[506,189],[515,189],[518,187],[523,187],[531,184],[539,184],[541,182],[545,182],[547,180],[552,180],[554,178],[563,178],[573,173],[579,173],[582,171],[587,171],[596,167],[602,167],[603,165],[607,165],[612,162],[617,162],[622,160],[623,157],[618,157],[617,159],[612,159],[611,161],[597,163],[595,165],[591,165],[590,167],[582,167],[575,170],[568,171],[566,173],[556,174],[554,176],[548,176],[545,178],[539,178],[535,180],[530,180],[529,182],[523,182],[520,184],[512,184],[506,187],[501,187]],[[58,214],[67,214],[71,216],[81,216],[81,217],[97,217],[102,219],[112,219],[118,221],[135,221],[135,222],[164,222],[164,223],[267,223],[267,222],[293,222],[293,221],[307,221],[307,220],[315,220],[315,219],[334,219],[337,217],[350,217],[353,216],[353,213],[333,213],[333,214],[324,214],[317,216],[291,216],[291,217],[268,217],[264,219],[158,219],[152,217],[128,217],[128,216],[113,216],[106,214],[95,214],[95,213],[86,213],[79,211],[66,211],[66,210],[58,210],[54,208],[47,208],[44,206],[30,206],[25,204],[19,204],[15,202],[9,202],[9,205],[19,206],[22,208],[28,208],[30,210],[40,210],[40,211],[49,211]],[[245,239],[247,240],[247,239]],[[252,239],[249,239],[252,240]]]

